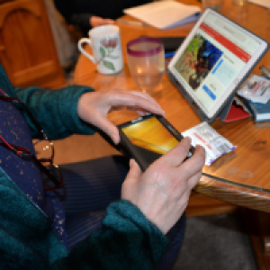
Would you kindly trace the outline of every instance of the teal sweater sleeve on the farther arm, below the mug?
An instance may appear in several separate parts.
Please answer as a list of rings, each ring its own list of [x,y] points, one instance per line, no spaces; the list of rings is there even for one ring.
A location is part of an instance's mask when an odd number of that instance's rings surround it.
[[[94,133],[94,127],[81,121],[77,115],[77,101],[81,94],[94,91],[91,87],[72,85],[58,90],[29,87],[14,91],[40,122],[49,139],[62,139],[73,133]],[[35,125],[27,113],[23,110],[22,113],[30,126],[31,136],[38,137]]]

